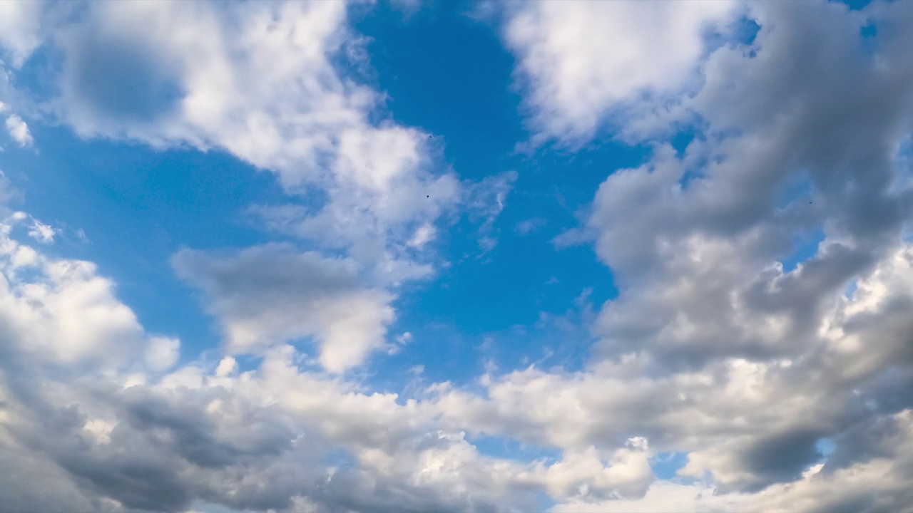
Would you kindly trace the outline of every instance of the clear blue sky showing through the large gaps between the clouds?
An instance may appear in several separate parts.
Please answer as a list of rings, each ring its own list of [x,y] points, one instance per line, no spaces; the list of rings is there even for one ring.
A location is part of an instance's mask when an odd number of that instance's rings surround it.
[[[523,357],[536,360],[546,349],[568,344],[560,330],[537,327],[541,316],[578,309],[575,299],[584,293],[598,305],[615,290],[611,271],[591,248],[556,249],[552,239],[579,224],[605,175],[637,165],[647,155],[645,148],[612,141],[573,154],[518,152],[515,146],[530,131],[523,127],[519,94],[510,90],[513,58],[496,32],[467,16],[469,6],[429,6],[404,17],[392,5],[378,5],[354,24],[370,38],[369,82],[386,95],[379,115],[436,134],[445,165],[464,180],[510,171],[518,175],[510,208],[491,227],[497,246],[480,248],[480,223],[461,219],[442,236],[441,257],[452,267],[409,286],[399,298],[407,307],[392,330],[411,332],[422,343],[384,362],[383,367],[394,366],[394,376],[403,365],[421,364],[435,381],[467,382],[488,359],[522,368],[529,364]],[[466,44],[455,47],[455,41]],[[20,73],[27,77],[28,72],[26,66]],[[124,101],[124,109],[132,109]],[[115,278],[119,296],[144,326],[189,342],[183,351],[188,361],[216,345],[218,327],[200,311],[194,290],[174,276],[169,257],[183,246],[216,249],[283,240],[257,229],[246,214],[253,204],[282,203],[277,183],[218,150],[157,151],[84,141],[59,127],[33,132],[54,143],[40,151],[14,147],[5,155],[6,167],[23,173],[11,178],[22,180],[33,215],[85,234],[88,242],[67,234],[70,244],[55,247],[58,255],[99,264],[102,274]],[[561,173],[550,173],[558,165]],[[523,337],[530,347],[514,347],[518,340],[511,332],[520,328],[542,333]],[[494,343],[480,351],[484,340]],[[582,343],[570,343],[575,352],[585,351]],[[568,358],[557,363],[580,368],[581,354]]]

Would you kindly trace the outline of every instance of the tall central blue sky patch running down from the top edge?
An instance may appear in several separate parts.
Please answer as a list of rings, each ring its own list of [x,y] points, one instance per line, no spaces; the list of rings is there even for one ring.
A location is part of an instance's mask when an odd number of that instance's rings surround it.
[[[404,18],[381,4],[356,23],[372,38],[376,87],[388,95],[394,120],[444,134],[444,157],[462,179],[518,173],[490,234],[467,221],[449,227],[441,241],[449,267],[403,289],[391,332],[408,331],[414,342],[373,369],[373,384],[392,383],[419,364],[432,382],[469,382],[491,360],[499,369],[522,368],[539,357],[524,356],[546,355],[543,340],[555,338],[542,328],[542,312],[563,315],[591,286],[596,304],[617,294],[591,247],[556,250],[552,239],[580,224],[609,174],[644,162],[649,149],[601,140],[575,153],[552,146],[515,152],[530,133],[511,85],[513,58],[465,7],[441,3]],[[484,251],[482,236],[497,245]],[[585,347],[578,344],[566,363],[579,368]]]

